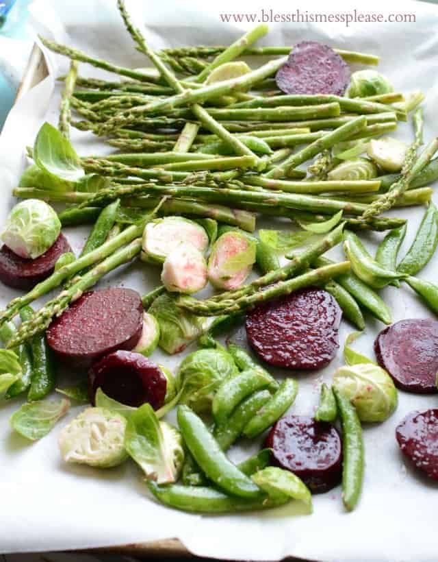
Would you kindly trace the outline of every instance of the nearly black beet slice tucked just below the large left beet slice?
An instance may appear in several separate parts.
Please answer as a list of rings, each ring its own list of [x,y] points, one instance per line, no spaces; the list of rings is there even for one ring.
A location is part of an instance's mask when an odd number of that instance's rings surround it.
[[[149,402],[154,410],[161,408],[166,396],[167,379],[151,359],[140,353],[117,351],[105,355],[88,371],[90,402],[96,390],[128,406]]]

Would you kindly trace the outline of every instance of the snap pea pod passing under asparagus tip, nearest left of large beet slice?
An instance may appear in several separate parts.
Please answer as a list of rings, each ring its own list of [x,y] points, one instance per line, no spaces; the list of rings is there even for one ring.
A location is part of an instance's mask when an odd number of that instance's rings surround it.
[[[23,308],[25,316],[23,316]],[[27,320],[34,314],[31,306],[25,306],[20,311],[21,319]],[[32,374],[27,400],[42,400],[55,388],[55,367],[53,356],[49,345],[47,345],[46,334],[36,334],[30,340],[32,355]],[[18,381],[17,381],[18,382]]]

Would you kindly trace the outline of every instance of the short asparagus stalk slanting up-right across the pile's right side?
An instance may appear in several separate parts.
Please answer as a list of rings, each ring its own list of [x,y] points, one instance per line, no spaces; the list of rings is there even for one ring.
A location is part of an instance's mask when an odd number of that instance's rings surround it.
[[[353,134],[356,134],[363,130],[367,125],[366,117],[357,117],[353,119],[346,125],[342,125],[339,129],[327,133],[322,138],[318,138],[311,145],[300,150],[296,154],[292,154],[279,166],[275,167],[273,170],[266,174],[266,178],[281,178],[282,175],[286,175],[289,169],[294,169],[302,162],[310,160],[313,156],[320,154],[323,150],[333,147],[336,143],[340,143],[342,140],[346,140]]]

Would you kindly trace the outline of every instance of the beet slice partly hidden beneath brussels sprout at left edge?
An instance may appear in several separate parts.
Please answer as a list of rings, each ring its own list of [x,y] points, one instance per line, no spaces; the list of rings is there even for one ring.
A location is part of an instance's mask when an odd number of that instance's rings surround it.
[[[40,281],[51,276],[57,259],[71,252],[70,244],[62,232],[47,252],[34,260],[17,256],[4,245],[0,248],[0,280],[10,287],[29,291]]]

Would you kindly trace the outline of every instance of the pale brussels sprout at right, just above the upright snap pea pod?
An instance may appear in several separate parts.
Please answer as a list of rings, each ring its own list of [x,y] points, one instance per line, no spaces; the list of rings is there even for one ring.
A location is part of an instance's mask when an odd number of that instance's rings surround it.
[[[384,422],[397,407],[397,389],[387,372],[372,363],[339,367],[333,386],[350,398],[362,422]]]

